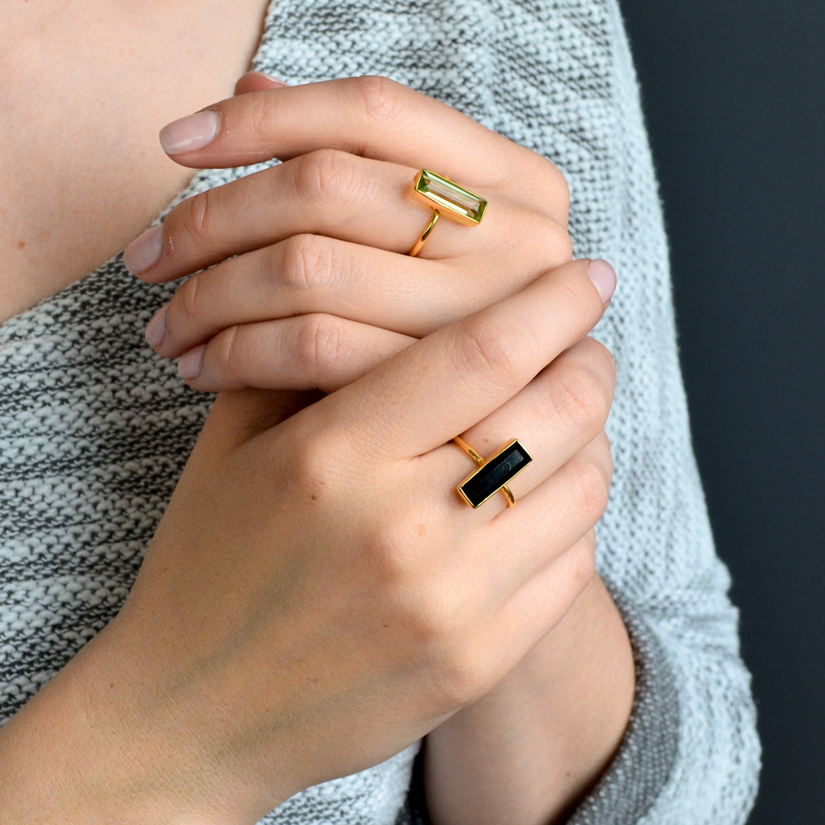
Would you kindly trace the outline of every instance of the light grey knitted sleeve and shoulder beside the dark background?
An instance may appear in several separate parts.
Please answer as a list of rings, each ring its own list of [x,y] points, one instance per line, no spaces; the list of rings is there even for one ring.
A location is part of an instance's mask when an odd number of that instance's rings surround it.
[[[577,256],[619,286],[596,337],[614,353],[615,459],[598,567],[634,643],[620,752],[572,825],[743,823],[759,745],[728,573],[715,552],[681,385],[667,243],[615,0],[287,0],[264,64],[291,82],[381,73],[554,161]],[[408,821],[426,817],[413,782]]]

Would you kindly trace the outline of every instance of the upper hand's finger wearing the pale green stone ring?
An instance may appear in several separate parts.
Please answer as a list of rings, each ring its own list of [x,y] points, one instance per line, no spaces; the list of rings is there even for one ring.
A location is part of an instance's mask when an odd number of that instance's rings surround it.
[[[304,155],[184,200],[126,247],[125,266],[158,283],[307,233],[406,254],[432,214],[410,197],[414,177],[412,168],[343,152]],[[562,226],[503,194],[478,226],[439,221],[420,257],[493,255],[497,239],[530,233],[547,239],[544,255],[568,257]],[[530,248],[537,255],[540,247]]]

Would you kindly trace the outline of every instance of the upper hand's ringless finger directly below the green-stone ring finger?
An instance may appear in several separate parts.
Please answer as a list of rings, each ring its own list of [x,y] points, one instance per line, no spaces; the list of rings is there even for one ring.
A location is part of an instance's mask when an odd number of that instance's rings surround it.
[[[295,235],[191,276],[149,323],[147,340],[174,358],[236,324],[311,313],[423,337],[504,298],[534,272],[479,282],[475,267]]]

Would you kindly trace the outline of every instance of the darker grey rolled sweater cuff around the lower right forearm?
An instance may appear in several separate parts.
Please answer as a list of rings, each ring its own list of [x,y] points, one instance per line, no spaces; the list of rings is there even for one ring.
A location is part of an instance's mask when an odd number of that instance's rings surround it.
[[[679,702],[667,654],[648,625],[617,600],[633,644],[636,694],[625,738],[601,779],[582,799],[568,825],[637,823],[658,799],[676,762]],[[396,825],[430,825],[422,752]]]

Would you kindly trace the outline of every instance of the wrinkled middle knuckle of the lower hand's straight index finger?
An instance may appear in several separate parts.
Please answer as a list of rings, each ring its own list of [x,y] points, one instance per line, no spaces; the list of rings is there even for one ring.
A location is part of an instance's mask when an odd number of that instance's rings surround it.
[[[455,339],[456,372],[467,384],[507,388],[521,370],[522,342],[516,330],[489,318],[460,325]]]

